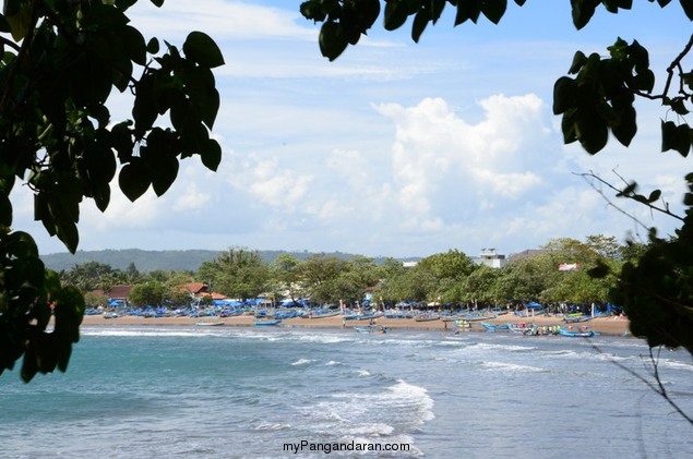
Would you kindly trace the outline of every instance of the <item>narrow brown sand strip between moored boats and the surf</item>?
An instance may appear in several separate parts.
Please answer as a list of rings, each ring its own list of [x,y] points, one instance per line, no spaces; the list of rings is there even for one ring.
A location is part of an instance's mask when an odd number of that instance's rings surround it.
[[[251,327],[253,326],[253,316],[241,315],[234,317],[136,317],[123,316],[116,318],[105,318],[103,315],[84,316],[82,325],[98,326],[116,326],[116,325],[151,325],[151,326],[190,326],[198,322],[222,322],[227,326]],[[497,318],[486,321],[494,324],[506,324],[514,322],[524,322],[526,324],[542,325],[564,325],[562,317],[552,317],[539,315],[536,317],[518,317],[510,314],[498,316]],[[452,331],[453,325],[443,321],[416,322],[413,318],[385,318],[379,317],[375,323],[396,330],[398,328],[420,329],[420,330],[440,330]],[[368,325],[368,321],[343,321],[339,316],[326,318],[289,318],[283,321],[279,325],[284,328],[353,328],[354,326]],[[593,330],[609,336],[622,336],[629,331],[629,321],[622,317],[597,317],[592,321],[582,323]],[[470,331],[485,331],[486,329],[479,323],[471,323]]]

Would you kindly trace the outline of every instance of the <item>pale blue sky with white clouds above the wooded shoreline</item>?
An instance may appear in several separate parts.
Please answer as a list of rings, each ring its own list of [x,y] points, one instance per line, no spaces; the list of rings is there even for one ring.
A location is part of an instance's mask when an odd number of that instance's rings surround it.
[[[574,52],[606,56],[617,37],[649,50],[661,90],[691,23],[678,2],[635,3],[618,15],[601,8],[580,32],[567,0],[509,1],[499,25],[480,17],[457,27],[447,4],[419,44],[410,21],[385,32],[381,12],[368,37],[330,62],[300,0],[167,0],[162,9],[142,0],[129,15],[146,39],[182,47],[198,29],[224,53],[212,132],[222,164],[212,172],[188,158],[164,196],[150,190],[135,203],[115,181],[106,213],[82,204],[79,249],[474,257],[557,238],[646,238],[635,220],[671,233],[674,219],[613,193],[607,200],[581,173],[661,189],[681,214],[690,160],[660,152],[659,136],[660,120],[676,119],[638,100],[631,146],[611,138],[590,156],[563,145],[551,112],[553,83]],[[113,95],[113,122],[130,117],[128,102]],[[67,252],[33,221],[26,186],[15,188],[13,228],[29,231],[41,254]]]

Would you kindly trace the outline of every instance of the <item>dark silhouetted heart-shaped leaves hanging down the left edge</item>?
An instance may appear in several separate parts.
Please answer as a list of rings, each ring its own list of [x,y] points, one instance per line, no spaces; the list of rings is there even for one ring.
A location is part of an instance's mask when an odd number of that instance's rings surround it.
[[[131,26],[136,0],[5,0],[0,14],[0,373],[24,355],[22,377],[65,370],[84,301],[46,270],[33,238],[12,230],[10,193],[34,193],[34,215],[70,252],[80,203],[104,212],[110,183],[131,201],[164,194],[179,160],[216,170],[210,130],[219,107],[212,69],[224,64],[202,32],[181,46]],[[160,7],[164,0],[152,0]],[[112,120],[111,93],[132,96],[131,118]],[[55,317],[52,333],[47,325]]]

